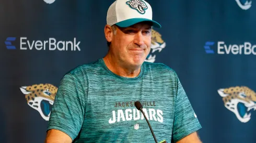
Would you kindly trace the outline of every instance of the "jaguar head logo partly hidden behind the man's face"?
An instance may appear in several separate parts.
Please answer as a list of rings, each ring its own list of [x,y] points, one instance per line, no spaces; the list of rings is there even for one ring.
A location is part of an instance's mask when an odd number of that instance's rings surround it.
[[[162,40],[161,34],[152,29],[151,50],[145,61],[155,62],[156,55],[159,52],[161,52],[161,50],[165,48],[165,46],[166,46],[166,43]],[[158,51],[158,53],[156,53],[156,51]]]

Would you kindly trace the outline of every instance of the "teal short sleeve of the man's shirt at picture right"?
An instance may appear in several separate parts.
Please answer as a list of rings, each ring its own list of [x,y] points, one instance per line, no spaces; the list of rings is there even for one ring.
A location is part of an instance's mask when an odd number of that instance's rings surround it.
[[[202,128],[199,120],[196,118],[191,103],[185,94],[185,91],[177,76],[177,95],[174,107],[174,123],[172,138],[174,142],[188,136],[189,134]]]

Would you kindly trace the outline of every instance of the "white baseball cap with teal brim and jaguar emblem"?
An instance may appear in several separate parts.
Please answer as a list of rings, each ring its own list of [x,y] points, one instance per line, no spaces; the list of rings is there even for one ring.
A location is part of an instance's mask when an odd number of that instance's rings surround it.
[[[108,9],[107,24],[110,26],[130,27],[143,21],[151,21],[153,27],[161,28],[152,20],[152,8],[144,0],[117,0]]]

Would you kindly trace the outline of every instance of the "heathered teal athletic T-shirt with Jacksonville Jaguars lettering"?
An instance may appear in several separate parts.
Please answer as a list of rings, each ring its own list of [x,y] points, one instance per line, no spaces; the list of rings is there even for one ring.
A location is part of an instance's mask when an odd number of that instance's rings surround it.
[[[66,73],[51,111],[48,129],[73,142],[176,142],[201,125],[175,71],[162,63],[144,62],[137,77],[111,72],[103,59]]]

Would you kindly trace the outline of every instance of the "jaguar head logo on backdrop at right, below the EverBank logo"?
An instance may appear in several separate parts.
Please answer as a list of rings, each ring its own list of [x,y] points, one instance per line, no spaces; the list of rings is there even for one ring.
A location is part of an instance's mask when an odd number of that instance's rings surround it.
[[[246,86],[236,86],[218,89],[224,106],[235,113],[237,119],[243,123],[251,119],[251,113],[256,110],[256,93]]]

